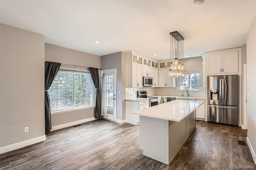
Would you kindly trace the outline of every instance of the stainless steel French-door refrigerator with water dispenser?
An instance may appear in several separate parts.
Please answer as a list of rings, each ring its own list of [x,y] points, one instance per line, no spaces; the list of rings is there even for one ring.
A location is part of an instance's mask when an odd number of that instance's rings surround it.
[[[238,125],[238,75],[207,77],[209,122]]]

